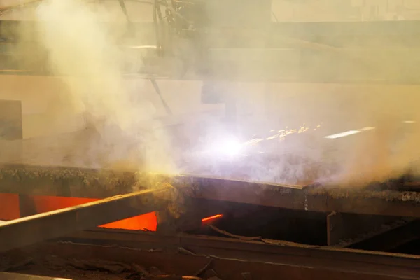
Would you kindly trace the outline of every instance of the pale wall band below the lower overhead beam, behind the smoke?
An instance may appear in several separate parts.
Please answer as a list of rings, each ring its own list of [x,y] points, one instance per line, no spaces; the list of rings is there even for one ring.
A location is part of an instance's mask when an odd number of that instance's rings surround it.
[[[66,111],[66,106],[59,107],[61,109],[55,106],[61,102],[60,94],[66,91],[59,78],[0,75],[0,84],[2,85],[0,99],[22,100],[24,138],[71,132],[85,126],[81,111]],[[160,120],[162,125],[198,123],[201,120],[224,116],[223,104],[201,103],[200,81],[159,80],[158,85],[162,97],[174,113],[172,116],[165,111],[150,81],[143,78],[127,79],[127,87],[135,94],[141,94],[144,104],[155,108],[155,113],[149,117]],[[384,99],[398,95],[404,104],[407,104],[407,100],[411,98],[415,104],[416,92],[419,90],[419,85],[327,83],[232,85],[232,92],[235,92],[238,100],[238,116],[242,123],[251,127],[260,127],[262,123],[269,127],[284,123],[284,120],[304,123],[310,120],[311,116],[320,116],[320,110],[325,116],[344,118],[344,107],[347,110],[359,111],[374,109],[377,106],[378,94]],[[363,108],[360,104],[363,104]]]

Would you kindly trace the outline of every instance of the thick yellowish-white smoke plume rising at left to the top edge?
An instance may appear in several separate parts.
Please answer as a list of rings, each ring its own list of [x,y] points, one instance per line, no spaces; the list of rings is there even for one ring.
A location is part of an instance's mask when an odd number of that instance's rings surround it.
[[[76,137],[64,160],[91,167],[173,171],[167,137],[153,129],[155,108],[141,98],[141,85],[137,96],[128,90],[123,52],[103,20],[87,1],[48,0],[36,8],[38,43],[47,49],[49,70],[66,85],[64,92],[57,92],[60,99],[52,111],[57,118],[62,111],[83,112],[94,131]],[[27,36],[25,30],[21,33]]]

